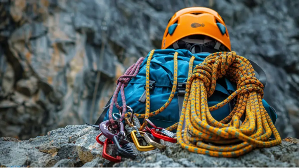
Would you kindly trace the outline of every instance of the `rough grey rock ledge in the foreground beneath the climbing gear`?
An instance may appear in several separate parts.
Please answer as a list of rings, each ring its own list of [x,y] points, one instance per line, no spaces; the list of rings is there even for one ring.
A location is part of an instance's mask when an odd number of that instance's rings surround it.
[[[103,146],[95,137],[99,130],[87,126],[67,126],[45,136],[19,141],[0,138],[0,164],[2,167],[298,167],[298,139],[287,138],[282,144],[265,149],[255,149],[238,158],[216,158],[190,153],[179,144],[167,143],[161,152],[135,150],[136,159],[122,158],[120,163],[102,157]],[[100,137],[104,141],[104,137]],[[108,152],[115,156],[113,144]]]

